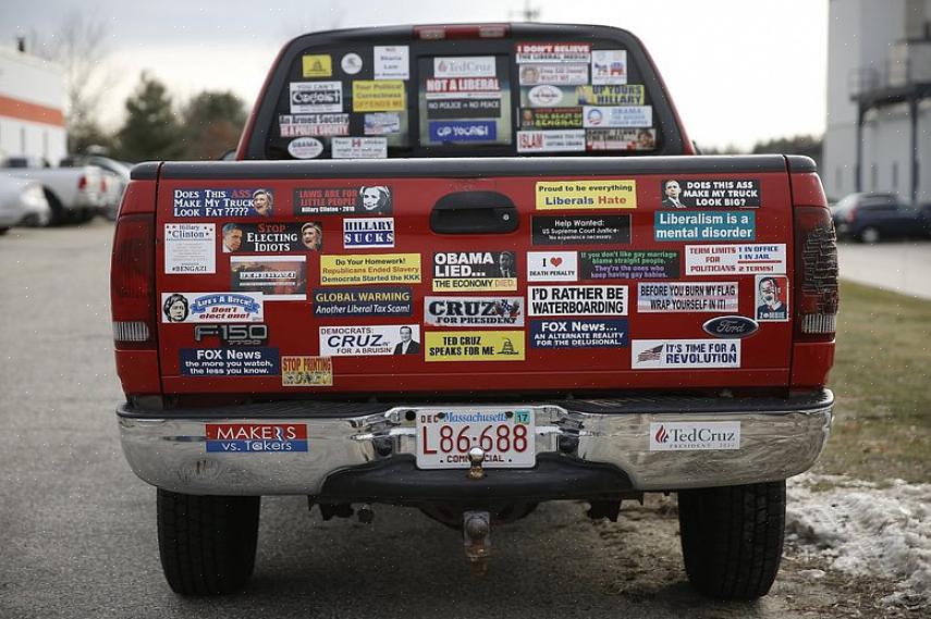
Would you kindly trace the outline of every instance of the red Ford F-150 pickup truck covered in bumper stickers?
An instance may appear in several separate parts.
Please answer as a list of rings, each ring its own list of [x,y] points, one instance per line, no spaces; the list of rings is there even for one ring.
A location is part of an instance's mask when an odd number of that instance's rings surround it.
[[[779,570],[833,395],[834,228],[810,159],[695,153],[600,26],[289,42],[237,161],[137,165],[111,274],[117,413],[171,587],[253,572],[264,495],[490,532],[678,495],[719,598]]]

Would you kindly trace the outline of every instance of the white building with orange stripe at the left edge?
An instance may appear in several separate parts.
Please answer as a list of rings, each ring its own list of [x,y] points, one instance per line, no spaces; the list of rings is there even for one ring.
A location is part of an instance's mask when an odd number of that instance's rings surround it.
[[[66,149],[64,71],[47,60],[0,48],[0,158],[58,163]]]

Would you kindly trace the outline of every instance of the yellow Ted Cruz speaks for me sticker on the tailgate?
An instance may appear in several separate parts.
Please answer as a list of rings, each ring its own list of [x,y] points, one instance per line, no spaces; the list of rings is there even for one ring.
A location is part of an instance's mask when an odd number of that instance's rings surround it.
[[[428,331],[427,361],[523,361],[523,331]]]

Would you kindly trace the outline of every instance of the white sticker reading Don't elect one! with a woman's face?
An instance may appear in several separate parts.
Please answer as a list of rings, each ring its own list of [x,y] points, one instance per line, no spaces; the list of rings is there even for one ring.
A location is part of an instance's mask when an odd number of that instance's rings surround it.
[[[162,322],[261,322],[261,293],[162,293]]]

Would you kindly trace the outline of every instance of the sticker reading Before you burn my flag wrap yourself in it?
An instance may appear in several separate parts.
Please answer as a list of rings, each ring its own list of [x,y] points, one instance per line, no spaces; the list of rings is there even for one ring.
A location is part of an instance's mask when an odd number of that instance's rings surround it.
[[[639,313],[737,311],[737,282],[650,282],[637,284]]]

